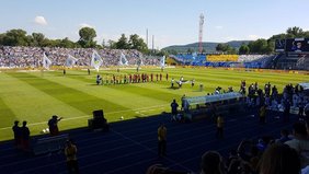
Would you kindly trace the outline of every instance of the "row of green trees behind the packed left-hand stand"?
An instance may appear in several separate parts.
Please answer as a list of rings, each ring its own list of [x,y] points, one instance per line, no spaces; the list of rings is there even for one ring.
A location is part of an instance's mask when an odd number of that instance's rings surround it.
[[[79,30],[79,40],[72,42],[68,37],[62,39],[47,38],[43,33],[27,33],[21,28],[10,30],[5,33],[0,33],[0,46],[30,46],[30,47],[61,47],[61,48],[111,48],[111,49],[137,49],[144,54],[161,56],[164,53],[160,50],[149,50],[144,39],[131,34],[126,37],[125,34],[118,40],[108,40],[98,44],[94,38],[96,32],[92,27],[82,27]]]

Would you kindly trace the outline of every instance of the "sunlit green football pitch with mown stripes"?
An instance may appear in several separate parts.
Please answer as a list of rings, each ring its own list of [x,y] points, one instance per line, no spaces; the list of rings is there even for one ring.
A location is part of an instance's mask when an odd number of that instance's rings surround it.
[[[136,69],[100,70],[101,76],[136,73]],[[205,68],[159,68],[140,69],[139,73],[162,73],[162,81],[130,84],[96,85],[96,72],[89,76],[85,70],[55,71],[2,71],[0,72],[0,140],[12,139],[14,120],[27,120],[31,135],[39,135],[47,128],[52,115],[64,117],[59,129],[85,127],[92,111],[103,109],[107,120],[122,121],[170,112],[170,103],[180,103],[183,94],[198,96],[213,93],[217,86],[239,90],[240,81],[247,85],[258,82],[264,88],[266,82],[275,84],[279,92],[285,84],[308,81],[301,73],[255,72]],[[165,74],[169,73],[169,80]],[[171,89],[171,78],[191,81],[182,89]],[[105,83],[105,81],[104,81]],[[204,91],[199,91],[199,84]],[[175,84],[178,85],[178,84]],[[121,118],[124,119],[121,119]]]

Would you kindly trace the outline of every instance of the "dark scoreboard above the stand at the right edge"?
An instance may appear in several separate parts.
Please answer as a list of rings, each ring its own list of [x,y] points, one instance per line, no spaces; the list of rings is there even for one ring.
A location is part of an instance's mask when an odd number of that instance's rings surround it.
[[[309,54],[309,38],[276,39],[275,51]]]

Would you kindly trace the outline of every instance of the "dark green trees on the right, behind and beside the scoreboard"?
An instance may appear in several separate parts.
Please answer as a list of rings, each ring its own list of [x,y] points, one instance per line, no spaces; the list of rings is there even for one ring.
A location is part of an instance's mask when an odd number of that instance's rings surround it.
[[[299,37],[309,38],[309,31],[304,31],[302,28],[297,26],[288,27],[286,33],[273,35],[268,39],[259,38],[256,40],[250,42],[249,44],[243,43],[238,50],[229,46],[228,44],[218,44],[216,50],[226,54],[240,54],[240,55],[273,54],[276,39],[299,38]]]

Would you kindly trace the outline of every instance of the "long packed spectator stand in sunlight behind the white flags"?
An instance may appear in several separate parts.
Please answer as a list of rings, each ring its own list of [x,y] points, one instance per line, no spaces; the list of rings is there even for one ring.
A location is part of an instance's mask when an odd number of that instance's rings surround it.
[[[64,66],[68,55],[78,59],[77,66],[90,66],[92,48],[55,48],[55,47],[0,47],[0,67],[27,68],[39,67],[43,54],[52,60],[53,66]],[[128,66],[142,63],[145,66],[160,66],[159,57],[145,57],[134,49],[99,49],[103,58],[103,67],[118,66],[121,55],[124,54]]]

